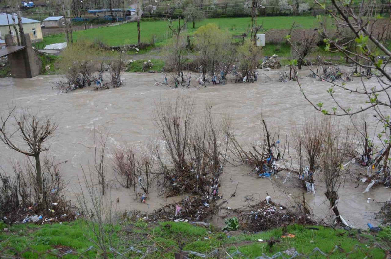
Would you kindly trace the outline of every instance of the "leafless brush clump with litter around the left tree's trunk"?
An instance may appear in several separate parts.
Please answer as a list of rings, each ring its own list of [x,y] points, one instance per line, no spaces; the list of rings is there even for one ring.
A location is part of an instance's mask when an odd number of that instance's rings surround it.
[[[61,221],[74,219],[74,207],[63,196],[67,182],[62,178],[61,164],[54,158],[43,159],[41,188],[30,160],[13,164],[13,176],[0,174],[0,214],[7,217],[7,223],[28,222],[28,214],[42,215],[44,219],[57,217]]]

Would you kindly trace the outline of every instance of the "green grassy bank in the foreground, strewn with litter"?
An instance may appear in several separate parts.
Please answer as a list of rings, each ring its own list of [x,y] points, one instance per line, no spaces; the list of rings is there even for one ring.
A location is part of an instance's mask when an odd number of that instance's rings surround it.
[[[0,224],[1,229],[5,226]],[[211,226],[208,228],[195,227],[188,223],[160,222],[148,224],[143,220],[124,221],[116,226],[113,236],[113,247],[118,251],[124,251],[129,246],[135,246],[145,251],[148,246],[156,246],[159,252],[151,254],[148,258],[161,258],[160,252],[170,246],[178,247],[183,245],[183,250],[192,250],[199,253],[208,253],[214,249],[226,250],[232,253],[238,249],[249,258],[262,254],[273,255],[289,248],[295,248],[299,253],[308,254],[314,248],[328,252],[335,245],[340,246],[346,252],[352,250],[353,246],[359,245],[366,250],[367,246],[378,242],[387,247],[391,242],[391,228],[387,227],[377,236],[369,232],[357,230],[346,231],[343,229],[332,229],[316,226],[319,230],[313,230],[300,225],[292,225],[285,228],[259,232],[257,234],[247,233],[224,233]],[[94,245],[94,237],[82,221],[53,225],[20,224],[9,228],[10,232],[0,232],[0,248],[11,247],[17,251],[23,251],[30,247],[38,252],[62,247],[72,248],[79,252]],[[283,238],[283,235],[292,234],[294,237]],[[262,241],[258,241],[262,239]],[[268,240],[278,242],[269,246]],[[389,247],[389,246],[388,246]],[[86,254],[88,258],[95,258],[96,253]],[[383,258],[384,252],[381,249],[373,249],[370,252],[372,258]],[[128,254],[128,257],[136,254]],[[364,253],[357,250],[349,258],[364,258]],[[25,258],[38,258],[36,254],[26,252]],[[72,256],[65,256],[72,258]],[[165,258],[173,258],[172,253],[165,254]],[[50,258],[47,255],[45,258]],[[335,252],[329,258],[345,258],[341,251]]]

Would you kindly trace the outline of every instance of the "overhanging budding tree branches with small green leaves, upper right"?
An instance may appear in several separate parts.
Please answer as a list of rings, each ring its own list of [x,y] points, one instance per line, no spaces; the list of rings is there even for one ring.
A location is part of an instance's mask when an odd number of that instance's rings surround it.
[[[321,1],[315,0],[315,2],[332,16],[339,30],[344,29],[354,35],[354,43],[353,39],[340,41],[329,32],[326,23],[321,22],[321,32],[326,42],[325,49],[330,52],[341,53],[349,62],[361,70],[355,71],[355,73],[349,71],[341,71],[341,73],[358,77],[362,80],[362,87],[357,87],[356,85],[349,87],[344,82],[326,80],[332,85],[327,92],[335,104],[332,110],[327,110],[323,102],[316,104],[308,98],[299,81],[298,85],[305,99],[316,110],[326,115],[351,116],[369,109],[373,110],[378,121],[384,125],[384,132],[379,137],[383,138],[382,141],[386,144],[387,148],[391,137],[391,121],[389,120],[391,97],[388,91],[391,87],[391,74],[388,70],[391,51],[382,43],[387,33],[385,33],[386,29],[384,27],[380,27],[380,31],[378,29],[378,24],[382,22],[382,19],[373,16],[374,2],[362,1],[360,8],[355,8],[353,1],[331,0],[332,9],[324,5]],[[319,18],[319,20],[321,19]],[[349,47],[350,44],[354,44],[355,47]],[[312,72],[315,73],[314,71]],[[377,83],[374,86],[368,86],[363,77],[370,77],[371,80],[375,80]],[[344,105],[335,99],[334,94],[336,90],[341,90],[346,94],[353,93],[358,96],[361,95],[366,97],[367,100],[361,107],[352,108],[349,104]],[[386,172],[385,176],[387,177]]]

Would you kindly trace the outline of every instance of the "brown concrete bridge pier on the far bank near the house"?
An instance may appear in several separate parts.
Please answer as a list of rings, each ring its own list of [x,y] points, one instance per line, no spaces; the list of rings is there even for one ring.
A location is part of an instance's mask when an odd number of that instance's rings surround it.
[[[23,35],[25,47],[16,52],[8,54],[8,62],[11,68],[11,74],[14,78],[32,78],[38,76],[41,72],[41,62],[39,61],[34,49],[32,49],[30,35]],[[11,34],[5,35],[5,46],[13,46]]]

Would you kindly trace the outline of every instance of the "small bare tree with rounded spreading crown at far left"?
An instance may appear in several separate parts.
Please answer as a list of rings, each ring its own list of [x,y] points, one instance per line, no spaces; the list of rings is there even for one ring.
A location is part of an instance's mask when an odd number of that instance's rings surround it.
[[[41,155],[41,152],[49,150],[49,147],[44,146],[44,144],[52,137],[54,131],[57,129],[57,124],[50,118],[41,119],[36,113],[30,113],[28,110],[23,110],[19,116],[14,116],[15,109],[15,107],[12,108],[7,115],[0,117],[0,140],[11,149],[35,158],[36,181],[39,190],[42,191],[39,155]],[[14,125],[16,127],[15,131],[9,131],[11,117],[16,122],[16,125]],[[11,139],[16,132],[19,133],[26,147],[18,146],[16,144],[17,140]]]

